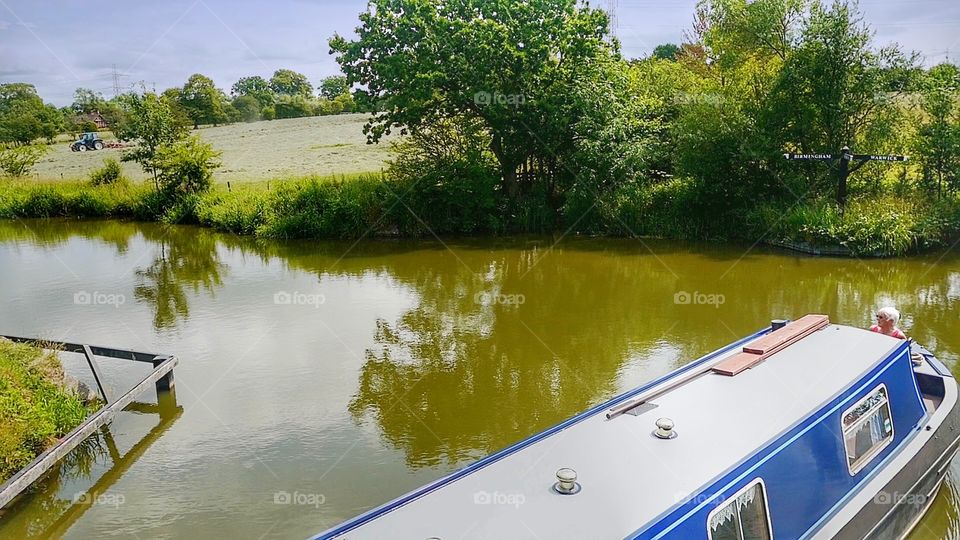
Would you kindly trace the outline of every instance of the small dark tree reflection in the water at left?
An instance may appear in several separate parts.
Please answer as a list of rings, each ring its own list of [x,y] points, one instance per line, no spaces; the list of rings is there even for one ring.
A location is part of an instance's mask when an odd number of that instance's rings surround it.
[[[221,287],[226,265],[220,262],[216,237],[202,229],[165,231],[153,240],[156,257],[146,268],[136,270],[133,294],[153,308],[153,326],[160,330],[190,315],[187,288],[193,293],[201,288],[213,293]]]

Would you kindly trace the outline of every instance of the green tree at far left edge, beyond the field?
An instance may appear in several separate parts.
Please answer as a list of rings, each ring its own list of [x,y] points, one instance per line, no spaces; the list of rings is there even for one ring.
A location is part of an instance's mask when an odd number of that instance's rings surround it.
[[[45,104],[32,84],[0,84],[0,142],[53,140],[62,129],[63,115]]]

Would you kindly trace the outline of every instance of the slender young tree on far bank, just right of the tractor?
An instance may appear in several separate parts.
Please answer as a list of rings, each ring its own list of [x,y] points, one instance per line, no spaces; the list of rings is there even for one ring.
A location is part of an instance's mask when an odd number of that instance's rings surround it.
[[[139,163],[158,183],[158,152],[183,138],[188,126],[178,122],[167,101],[153,92],[125,94],[120,103],[124,121],[114,127],[114,133],[120,140],[137,143],[124,154],[123,161]]]

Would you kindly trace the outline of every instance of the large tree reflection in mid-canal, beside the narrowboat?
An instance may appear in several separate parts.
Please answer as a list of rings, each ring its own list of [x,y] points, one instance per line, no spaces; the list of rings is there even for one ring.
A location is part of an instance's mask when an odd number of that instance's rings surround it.
[[[630,274],[665,273],[654,261],[598,281],[568,271],[570,257],[588,254],[543,255],[465,252],[399,275],[417,284],[418,305],[377,322],[349,408],[358,421],[374,419],[409,465],[475,459],[602,401],[631,349],[669,330],[624,302]],[[669,292],[665,279],[646,287]]]

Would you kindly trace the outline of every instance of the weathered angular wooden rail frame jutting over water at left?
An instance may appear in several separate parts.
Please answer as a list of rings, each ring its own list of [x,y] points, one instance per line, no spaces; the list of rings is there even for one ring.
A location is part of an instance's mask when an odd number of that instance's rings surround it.
[[[13,475],[6,483],[0,485],[0,508],[5,507],[10,501],[14,500],[20,493],[30,487],[37,479],[42,477],[50,468],[63,459],[64,456],[79,446],[87,437],[113,420],[113,417],[116,416],[118,412],[130,405],[134,399],[145,392],[151,385],[156,388],[158,394],[172,390],[173,368],[179,361],[176,356],[172,355],[144,353],[82,343],[68,343],[4,335],[0,335],[0,338],[8,339],[15,343],[26,343],[43,349],[83,354],[87,360],[87,364],[90,366],[90,371],[93,373],[93,378],[97,384],[100,396],[105,403],[100,410],[90,415],[82,424],[74,428],[73,431],[63,437],[55,446],[37,456],[29,465]],[[148,363],[153,366],[153,371],[133,388],[127,390],[126,393],[114,398],[104,385],[103,374],[96,360],[97,356]]]

